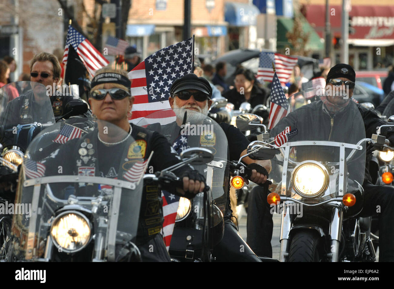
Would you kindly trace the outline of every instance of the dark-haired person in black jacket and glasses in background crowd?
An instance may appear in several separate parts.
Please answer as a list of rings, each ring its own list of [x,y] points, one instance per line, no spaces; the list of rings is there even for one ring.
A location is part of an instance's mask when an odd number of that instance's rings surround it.
[[[250,103],[252,108],[258,104],[267,105],[269,90],[260,86],[250,69],[239,68],[235,74],[235,87],[222,93],[223,97],[234,104],[235,110],[238,110],[244,102]]]

